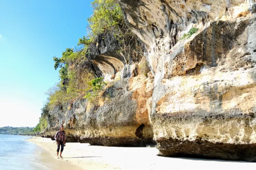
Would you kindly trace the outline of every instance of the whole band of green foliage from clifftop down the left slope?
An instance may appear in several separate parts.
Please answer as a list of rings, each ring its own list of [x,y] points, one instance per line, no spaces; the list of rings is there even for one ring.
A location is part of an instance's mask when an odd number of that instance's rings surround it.
[[[89,35],[79,38],[77,47],[67,48],[62,57],[54,57],[54,68],[59,68],[60,83],[49,95],[49,108],[77,99],[86,98],[94,102],[104,84],[102,78],[95,79],[91,64],[85,57],[90,53],[89,46],[105,34],[114,36],[121,50],[133,44],[133,34],[125,22],[118,0],[94,0],[91,2],[93,15],[87,20]],[[88,93],[88,90],[92,92]]]

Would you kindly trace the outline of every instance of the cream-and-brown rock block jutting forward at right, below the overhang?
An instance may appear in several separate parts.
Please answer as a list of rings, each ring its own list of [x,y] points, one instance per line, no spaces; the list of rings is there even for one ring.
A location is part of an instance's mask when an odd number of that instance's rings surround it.
[[[151,112],[160,155],[256,160],[255,21],[212,22],[163,59]]]

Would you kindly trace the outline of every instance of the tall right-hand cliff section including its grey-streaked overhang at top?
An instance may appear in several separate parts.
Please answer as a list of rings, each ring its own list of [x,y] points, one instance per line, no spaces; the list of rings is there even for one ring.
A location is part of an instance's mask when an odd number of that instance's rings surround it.
[[[255,162],[254,0],[120,4],[147,46],[159,155]],[[192,26],[199,31],[180,40]]]

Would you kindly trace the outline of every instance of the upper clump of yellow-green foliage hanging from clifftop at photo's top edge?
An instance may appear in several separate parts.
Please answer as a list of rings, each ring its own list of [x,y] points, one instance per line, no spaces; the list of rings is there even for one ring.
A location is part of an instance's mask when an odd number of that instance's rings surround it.
[[[125,51],[128,58],[130,58],[130,47],[133,45],[135,38],[132,30],[125,23],[124,15],[118,1],[95,0],[91,2],[91,7],[93,8],[93,15],[87,19],[90,30],[89,36],[87,37],[89,42],[104,39],[106,34],[113,35],[116,45],[120,48],[117,52]],[[89,53],[89,50],[87,53]]]

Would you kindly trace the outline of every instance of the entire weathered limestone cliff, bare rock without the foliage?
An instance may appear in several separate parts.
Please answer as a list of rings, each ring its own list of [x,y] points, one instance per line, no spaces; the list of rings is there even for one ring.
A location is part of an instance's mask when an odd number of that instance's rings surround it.
[[[97,74],[114,82],[99,108],[82,100],[54,109],[47,135],[63,123],[70,139],[92,145],[156,141],[162,156],[255,162],[255,1],[119,2],[138,37],[131,55],[117,52],[111,35],[92,44]],[[148,77],[138,75],[142,57]]]

